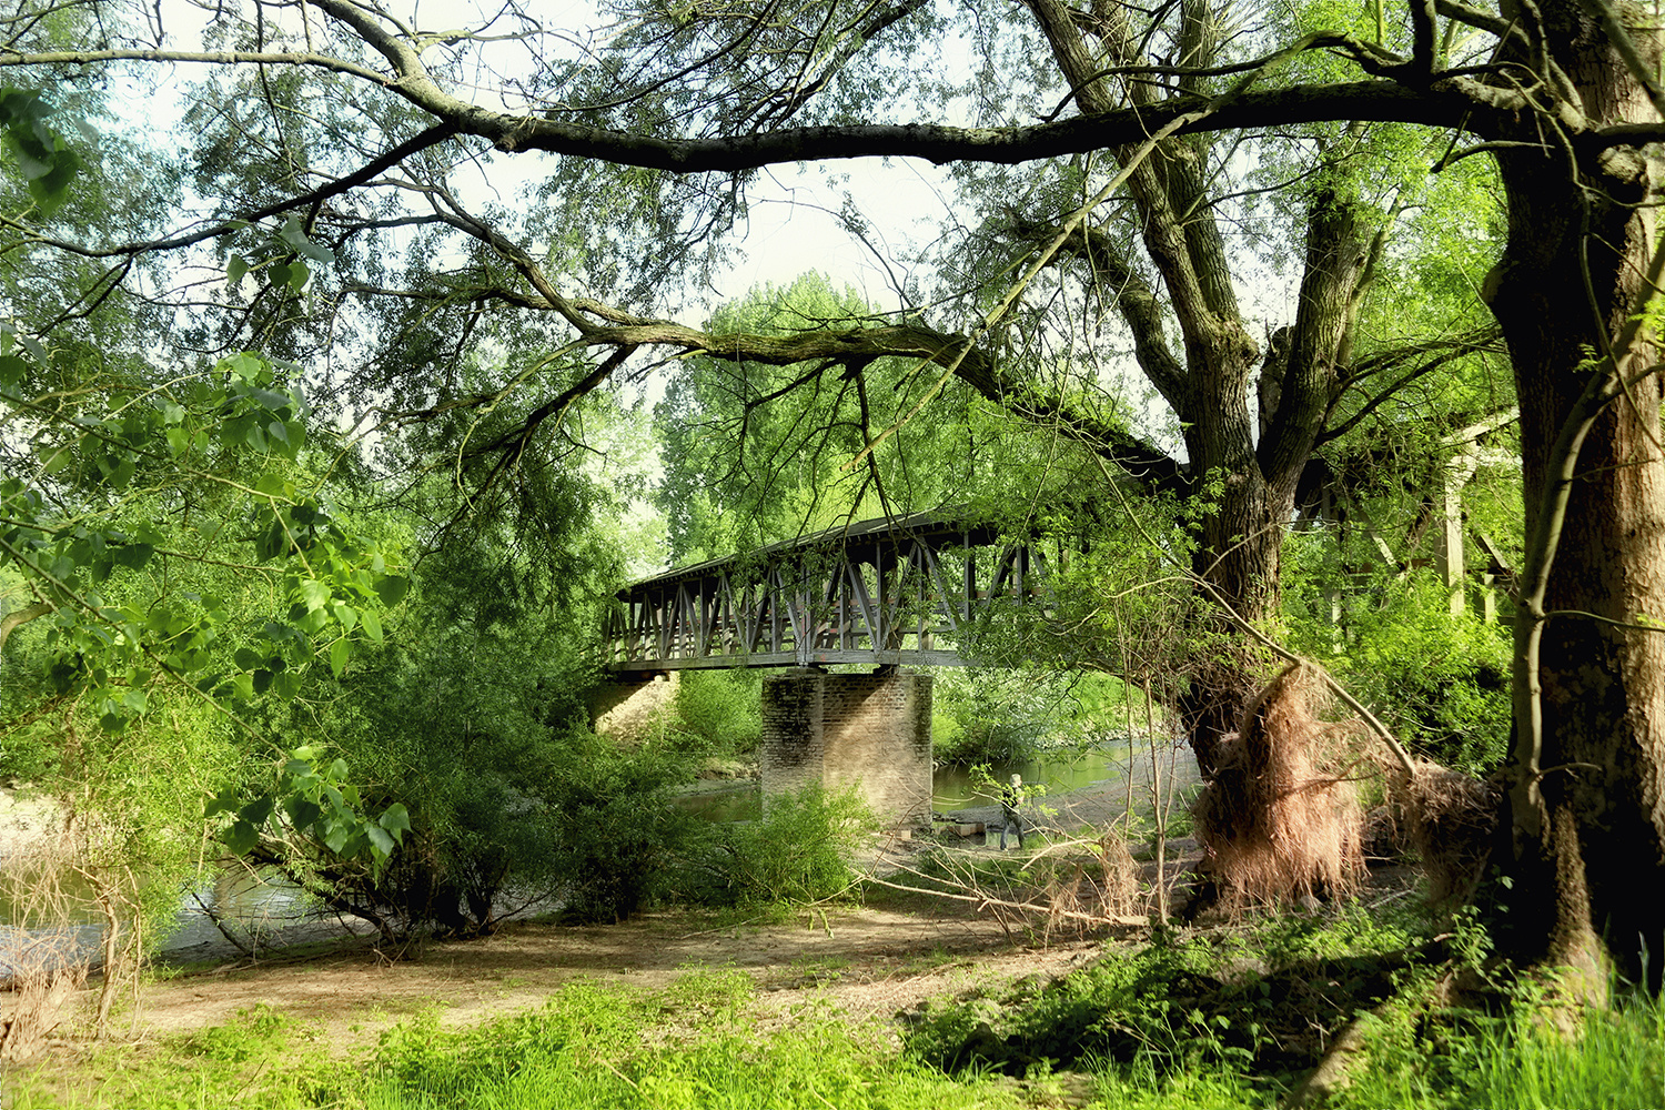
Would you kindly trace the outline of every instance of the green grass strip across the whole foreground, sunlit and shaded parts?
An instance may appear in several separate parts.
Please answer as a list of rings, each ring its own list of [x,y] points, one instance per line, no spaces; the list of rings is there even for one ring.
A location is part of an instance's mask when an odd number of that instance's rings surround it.
[[[468,1030],[445,1028],[428,1007],[348,1058],[321,1043],[318,1027],[256,1005],[185,1037],[10,1068],[0,1093],[15,1110],[1227,1110],[1277,1105],[1310,1067],[1320,1045],[1292,1050],[1295,1018],[1322,1010],[1339,1027],[1370,1008],[1364,1063],[1332,1103],[1340,1110],[1665,1105],[1658,999],[1592,1013],[1568,1038],[1527,992],[1494,1015],[1437,1007],[1444,969],[1405,964],[1417,937],[1405,920],[1342,912],[1252,934],[1250,945],[1240,934],[1197,937],[1051,985],[1019,980],[941,1000],[901,1045],[886,1022],[856,1022],[829,1003],[783,1015],[748,974],[696,967],[659,990],[573,984],[543,1007]],[[1397,990],[1349,1008],[1345,975],[1372,960],[1399,962]],[[844,965],[803,960],[793,970],[834,979]],[[1297,1015],[1279,1008],[1292,992],[1260,989],[1292,974],[1324,979]]]

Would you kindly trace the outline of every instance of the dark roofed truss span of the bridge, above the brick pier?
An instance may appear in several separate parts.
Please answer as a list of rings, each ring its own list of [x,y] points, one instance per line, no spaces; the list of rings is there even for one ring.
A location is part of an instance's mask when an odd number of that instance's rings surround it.
[[[621,589],[608,669],[964,666],[977,622],[1047,574],[1039,546],[946,511],[862,521]]]

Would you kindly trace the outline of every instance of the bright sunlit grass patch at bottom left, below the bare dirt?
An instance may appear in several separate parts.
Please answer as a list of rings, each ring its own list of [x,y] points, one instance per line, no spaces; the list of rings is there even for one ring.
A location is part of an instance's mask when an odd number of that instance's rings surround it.
[[[1004,1082],[951,1078],[902,1057],[871,1022],[831,1010],[779,1027],[751,979],[696,969],[664,990],[574,984],[481,1028],[441,1028],[435,1010],[331,1063],[315,1027],[270,1007],[143,1048],[108,1047],[72,1070],[13,1070],[15,1110],[77,1107],[291,1110],[824,1110],[1034,1105]]]

